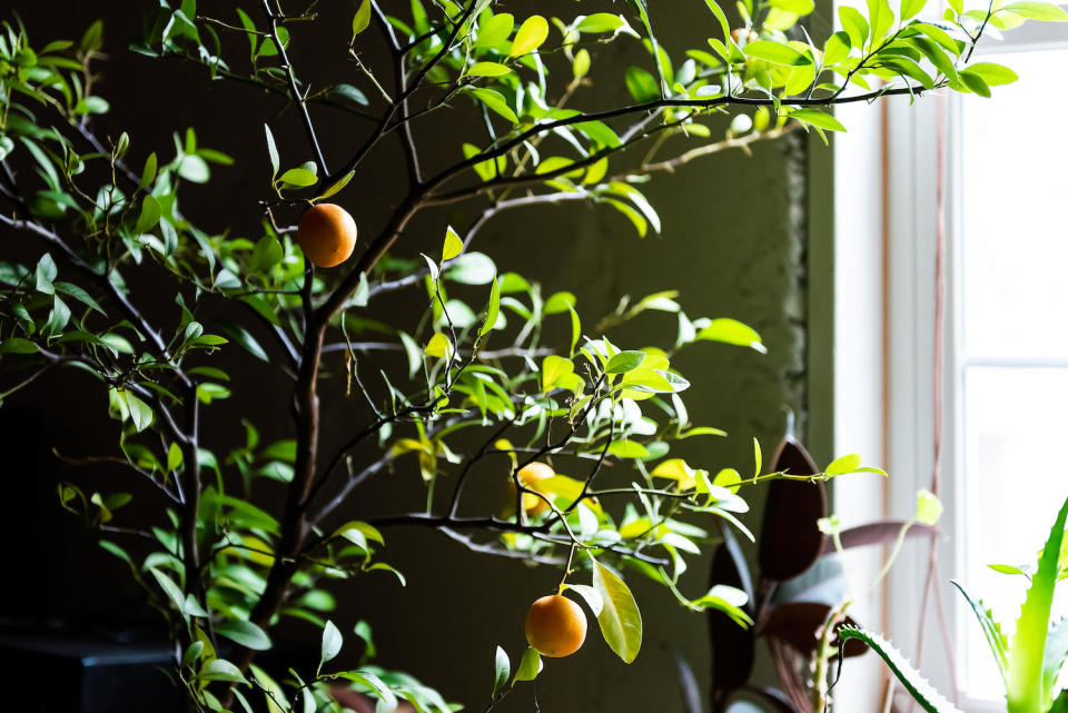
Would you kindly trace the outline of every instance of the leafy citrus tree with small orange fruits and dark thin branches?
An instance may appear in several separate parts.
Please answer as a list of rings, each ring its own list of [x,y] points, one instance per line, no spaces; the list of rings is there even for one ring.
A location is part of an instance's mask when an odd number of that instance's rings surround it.
[[[706,44],[669,49],[644,0],[587,0],[563,18],[498,4],[362,0],[344,18],[348,43],[317,48],[346,68],[347,81],[336,82],[290,61],[315,23],[336,22],[336,8],[320,17],[315,2],[160,0],[135,51],[199,66],[205,82],[254,85],[300,118],[293,136],[255,108],[227,119],[261,132],[271,168],[249,174],[260,220],[240,226],[195,225],[182,212],[185,187],[233,162],[192,130],[156,147],[95,130],[109,110],[95,82],[100,23],[79,41],[41,41],[47,28],[14,20],[0,33],[0,225],[6,242],[36,240],[31,259],[0,263],[2,395],[57,369],[97,384],[85,417],[118,423],[109,457],[155,486],[158,497],[142,507],[156,524],[123,523],[123,492],[65,482],[59,502],[129,564],[167,621],[174,680],[192,709],[339,710],[344,684],[380,711],[399,700],[451,710],[409,674],[330,665],[344,636],[324,592],[334,580],[393,571],[384,557],[398,525],[560,571],[558,588],[527,615],[531,647],[497,651],[491,707],[537,675],[542,655],[581,645],[585,615],[564,593],[585,603],[627,663],[642,641],[630,576],[751,625],[738,590],[684,593],[679,576],[711,531],[751,536],[738,519],[743,487],[802,476],[763,472],[759,447],[746,474],[675,457],[679,440],[723,434],[691,423],[689,382],[672,359],[702,343],[761,350],[760,336],[729,318],[688,316],[674,293],[584,321],[570,293],[498,274],[476,249],[479,230],[516,207],[545,206],[551,219],[552,206],[584,201],[622,212],[639,236],[659,231],[641,189],[647,178],[794,128],[843,130],[827,110],[837,103],[988,96],[1015,75],[970,61],[983,32],[1065,18],[1031,0],[981,10],[953,0],[942,21],[920,21],[922,0],[869,0],[864,11],[843,7],[842,30],[817,41],[798,24],[811,0],[741,0],[733,20],[705,0],[695,4],[708,10]],[[380,41],[388,57],[372,61],[366,48]],[[595,66],[597,50],[615,42],[632,46],[633,65]],[[630,99],[606,106],[607,82],[624,83]],[[317,119],[328,112],[348,127],[349,149],[336,155],[319,140]],[[446,117],[464,130],[435,132]],[[720,117],[730,128],[713,138]],[[453,136],[467,138],[443,139]],[[435,160],[424,150],[431,140]],[[387,145],[399,146],[403,165],[366,175],[368,157]],[[451,160],[439,164],[443,154]],[[385,180],[403,189],[396,206],[360,202],[356,187]],[[437,247],[412,248],[417,215],[462,201],[478,206],[477,220],[441,221]],[[380,228],[365,235],[365,224]],[[130,288],[135,276],[175,294],[166,315],[148,316],[151,295]],[[403,290],[425,305],[411,323],[389,307]],[[245,318],[222,316],[233,310]],[[646,311],[678,324],[674,343],[616,344],[613,331]],[[278,367],[277,387],[291,393],[290,438],[261,443],[249,414],[244,442],[208,446],[212,405],[231,396],[220,350]],[[324,404],[342,399],[362,404],[365,418],[332,423],[329,433]],[[846,456],[803,478],[864,469],[877,471]],[[419,474],[425,508],[346,517],[362,486],[390,471]],[[476,473],[510,486],[503,508],[472,512],[465,488]],[[277,487],[284,504],[273,507],[264,494]],[[322,630],[320,661],[294,662],[288,673],[256,665],[283,618]],[[364,625],[355,634],[370,641]]]

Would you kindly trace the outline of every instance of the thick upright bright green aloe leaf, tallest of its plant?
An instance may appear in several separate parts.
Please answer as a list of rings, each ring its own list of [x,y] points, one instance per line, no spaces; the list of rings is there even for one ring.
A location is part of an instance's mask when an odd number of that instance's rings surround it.
[[[1016,622],[1016,633],[1009,642],[1008,679],[1005,692],[1011,713],[1044,713],[1054,703],[1054,686],[1042,675],[1046,634],[1049,631],[1049,613],[1054,605],[1057,586],[1060,545],[1065,538],[1065,519],[1068,518],[1068,499],[1057,514],[1049,539],[1038,559],[1038,570],[1031,577],[1027,598]]]

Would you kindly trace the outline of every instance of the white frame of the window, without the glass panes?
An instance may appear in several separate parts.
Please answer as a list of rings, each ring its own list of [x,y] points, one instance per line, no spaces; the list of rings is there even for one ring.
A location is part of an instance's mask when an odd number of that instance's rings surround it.
[[[1068,48],[1062,24],[1028,22],[1002,41],[980,43],[975,59],[1025,50]],[[997,91],[997,89],[995,89]],[[941,107],[940,107],[941,105]],[[930,485],[933,448],[934,246],[938,205],[939,123],[946,121],[946,311],[942,377],[941,522],[948,535],[939,544],[940,572],[931,596],[941,596],[958,671],[965,665],[963,627],[975,626],[948,581],[962,570],[963,375],[960,356],[961,280],[957,249],[961,216],[959,145],[961,100],[956,95],[886,101],[873,107],[839,110],[849,133],[834,146],[834,452],[881,456],[890,472],[886,488],[850,483],[834,489],[840,514],[861,514],[862,522],[880,515],[909,517],[916,492]],[[881,156],[880,156],[881,155]],[[878,157],[878,160],[877,160]],[[873,457],[868,457],[869,454]],[[847,519],[843,516],[843,519]],[[914,660],[921,592],[928,571],[928,541],[917,539],[894,564],[886,598],[869,604],[864,618],[884,630],[908,658]],[[869,554],[869,571],[878,554]],[[881,605],[880,605],[881,604]],[[881,610],[881,611],[880,611]],[[928,602],[920,669],[947,695],[950,671],[937,626],[934,601]],[[870,665],[870,664],[869,664]],[[851,674],[852,675],[852,674]],[[850,710],[878,711],[882,686],[874,673],[861,674],[867,691],[849,693]],[[887,674],[882,672],[883,681]],[[844,683],[844,681],[843,681]],[[963,693],[962,693],[963,695]],[[852,705],[856,703],[856,705]],[[968,713],[1003,713],[1003,702],[961,700]]]

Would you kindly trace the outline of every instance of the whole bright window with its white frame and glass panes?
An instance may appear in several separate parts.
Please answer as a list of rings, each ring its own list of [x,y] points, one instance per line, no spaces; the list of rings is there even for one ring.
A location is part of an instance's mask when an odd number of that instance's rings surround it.
[[[1068,495],[1059,454],[1068,438],[1068,31],[1029,23],[980,47],[976,61],[1009,66],[1021,79],[996,87],[992,99],[928,97],[911,107],[894,99],[882,118],[843,117],[850,133],[834,148],[835,452],[884,448],[889,516],[911,514],[917,488],[930,483],[945,120],[947,538],[933,593],[946,606],[956,671],[933,603],[921,669],[946,693],[956,680],[965,710],[1003,711],[981,631],[948,581],[966,583],[1011,624],[1026,582],[987,565],[1034,564]],[[837,509],[850,512],[863,495],[839,488]],[[910,658],[927,553],[927,542],[906,548],[882,612],[882,626]],[[1058,603],[1068,614],[1066,604]],[[877,702],[858,710],[878,710]]]

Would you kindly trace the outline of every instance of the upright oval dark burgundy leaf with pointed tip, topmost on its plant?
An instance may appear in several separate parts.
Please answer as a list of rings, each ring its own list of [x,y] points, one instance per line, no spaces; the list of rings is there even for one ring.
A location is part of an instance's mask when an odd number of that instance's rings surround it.
[[[775,452],[774,469],[791,475],[819,472],[804,447],[789,439],[783,439]],[[760,531],[761,575],[782,582],[811,567],[823,547],[823,533],[817,522],[825,516],[823,483],[773,481],[768,488]]]

